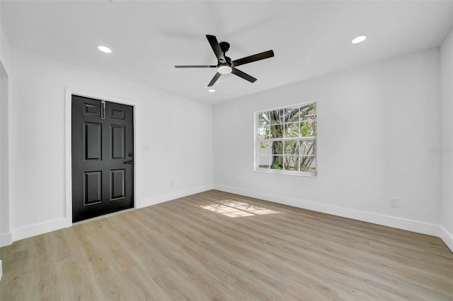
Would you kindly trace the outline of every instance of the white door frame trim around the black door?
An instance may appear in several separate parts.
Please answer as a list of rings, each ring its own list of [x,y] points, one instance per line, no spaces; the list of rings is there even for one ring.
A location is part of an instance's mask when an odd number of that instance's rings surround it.
[[[97,100],[105,100],[109,102],[116,102],[122,105],[130,105],[133,107],[134,112],[134,208],[140,208],[140,197],[139,197],[139,172],[137,166],[139,166],[141,150],[138,147],[139,143],[139,104],[132,100],[125,100],[123,98],[115,98],[109,95],[102,95],[99,93],[88,92],[84,90],[68,88],[65,89],[64,99],[64,166],[65,166],[65,200],[66,200],[66,219],[67,227],[72,225],[72,132],[71,132],[71,104],[72,95],[84,96],[86,98],[94,98]]]

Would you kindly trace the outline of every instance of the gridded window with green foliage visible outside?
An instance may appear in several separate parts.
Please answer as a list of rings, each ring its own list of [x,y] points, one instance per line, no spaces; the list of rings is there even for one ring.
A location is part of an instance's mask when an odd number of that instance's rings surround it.
[[[255,170],[316,175],[316,102],[256,112]]]

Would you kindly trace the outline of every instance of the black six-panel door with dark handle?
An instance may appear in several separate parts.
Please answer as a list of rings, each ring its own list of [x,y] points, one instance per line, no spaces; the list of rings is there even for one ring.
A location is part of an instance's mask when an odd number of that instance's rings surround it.
[[[105,117],[104,119],[102,117]],[[72,96],[72,220],[134,206],[133,107]]]

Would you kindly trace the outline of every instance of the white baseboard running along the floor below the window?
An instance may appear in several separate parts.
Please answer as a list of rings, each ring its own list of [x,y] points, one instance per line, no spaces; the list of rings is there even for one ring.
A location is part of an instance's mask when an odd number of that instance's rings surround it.
[[[256,191],[248,191],[246,189],[239,189],[236,187],[229,187],[219,184],[214,184],[214,189],[230,192],[232,194],[241,194],[243,196],[249,196],[256,199],[263,199],[265,201],[272,201],[275,203],[282,203],[284,205],[309,209],[312,211],[328,213],[332,214],[333,216],[341,216],[343,218],[361,220],[367,223],[374,223],[377,225],[384,225],[387,227],[418,232],[426,235],[433,235],[436,237],[440,237],[445,242],[445,244],[447,244],[449,249],[453,251],[452,235],[449,235],[449,233],[445,229],[440,227],[440,225],[423,223],[417,220],[409,220],[406,218],[398,218],[395,216],[385,216],[382,214],[360,211],[350,208],[332,206],[325,203],[316,203],[313,201],[306,201],[302,199],[288,198],[285,196],[279,196],[275,194],[264,194]],[[443,230],[441,230],[441,228]]]

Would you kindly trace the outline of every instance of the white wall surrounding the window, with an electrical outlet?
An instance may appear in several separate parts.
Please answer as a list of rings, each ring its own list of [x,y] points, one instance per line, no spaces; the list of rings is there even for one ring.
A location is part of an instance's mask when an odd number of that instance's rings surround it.
[[[437,235],[439,60],[429,49],[215,105],[214,188]],[[254,172],[253,112],[313,100],[318,176]]]

